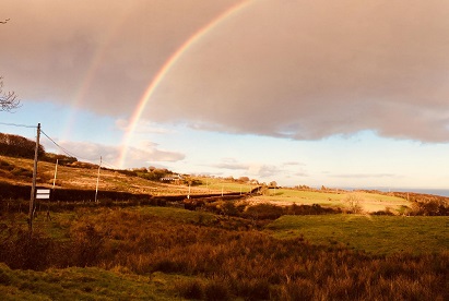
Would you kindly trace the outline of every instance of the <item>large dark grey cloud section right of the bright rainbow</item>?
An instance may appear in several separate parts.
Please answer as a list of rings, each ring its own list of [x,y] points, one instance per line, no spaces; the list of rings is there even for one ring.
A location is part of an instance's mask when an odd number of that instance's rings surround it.
[[[189,49],[152,97],[161,122],[319,140],[374,130],[449,142],[444,1],[260,1]]]

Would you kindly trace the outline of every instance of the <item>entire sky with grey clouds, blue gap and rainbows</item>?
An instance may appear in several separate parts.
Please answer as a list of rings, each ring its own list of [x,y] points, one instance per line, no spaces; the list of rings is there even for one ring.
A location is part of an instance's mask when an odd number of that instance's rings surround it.
[[[0,132],[109,168],[449,188],[449,2],[3,0]],[[12,125],[15,124],[15,125]],[[50,139],[48,139],[48,137]],[[56,143],[56,144],[55,144]]]

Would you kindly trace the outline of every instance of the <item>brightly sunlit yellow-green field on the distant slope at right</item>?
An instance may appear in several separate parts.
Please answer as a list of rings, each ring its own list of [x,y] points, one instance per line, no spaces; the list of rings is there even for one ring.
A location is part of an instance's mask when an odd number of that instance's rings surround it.
[[[291,189],[271,189],[264,195],[255,196],[251,202],[269,202],[279,205],[318,204],[328,207],[347,208],[348,200],[353,197],[362,207],[362,210],[370,213],[389,208],[399,214],[404,207],[411,206],[411,202],[392,195],[352,191],[302,191]]]

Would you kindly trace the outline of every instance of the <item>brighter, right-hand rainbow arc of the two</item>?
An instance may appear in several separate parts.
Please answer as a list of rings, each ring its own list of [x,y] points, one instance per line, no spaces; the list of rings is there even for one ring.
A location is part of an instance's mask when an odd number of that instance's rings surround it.
[[[204,37],[208,33],[213,31],[217,25],[220,25],[222,22],[224,22],[226,19],[237,14],[238,12],[245,10],[247,7],[249,7],[252,2],[256,2],[256,0],[246,0],[243,1],[238,4],[235,4],[227,9],[225,12],[220,14],[217,17],[212,20],[209,24],[206,24],[204,27],[200,28],[198,32],[196,32],[191,37],[189,37],[169,58],[168,60],[164,63],[164,65],[159,69],[159,71],[156,73],[156,76],[154,76],[153,81],[150,83],[147,88],[145,89],[144,94],[139,100],[138,106],[135,107],[134,112],[131,116],[129,127],[127,129],[127,132],[125,133],[123,141],[121,143],[121,152],[120,152],[120,157],[118,161],[118,166],[120,168],[123,168],[125,160],[128,155],[128,149],[129,149],[129,144],[131,142],[131,139],[133,136],[133,133],[135,131],[135,128],[139,123],[139,120],[142,116],[143,110],[146,107],[146,104],[149,103],[151,96],[153,95],[154,91],[157,88],[157,86],[161,84],[161,82],[164,80],[165,75],[170,71],[172,67],[179,60],[179,58],[185,53],[190,47],[192,47],[194,44],[197,44],[202,37]]]

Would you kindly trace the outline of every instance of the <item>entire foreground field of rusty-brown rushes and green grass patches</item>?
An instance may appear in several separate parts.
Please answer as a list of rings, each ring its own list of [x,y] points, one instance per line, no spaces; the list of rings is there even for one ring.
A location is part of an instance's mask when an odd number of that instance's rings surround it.
[[[448,220],[441,217],[273,221],[98,207],[52,213],[51,220],[39,215],[32,236],[25,214],[1,217],[2,300],[449,298]],[[404,241],[417,252],[403,252]]]

